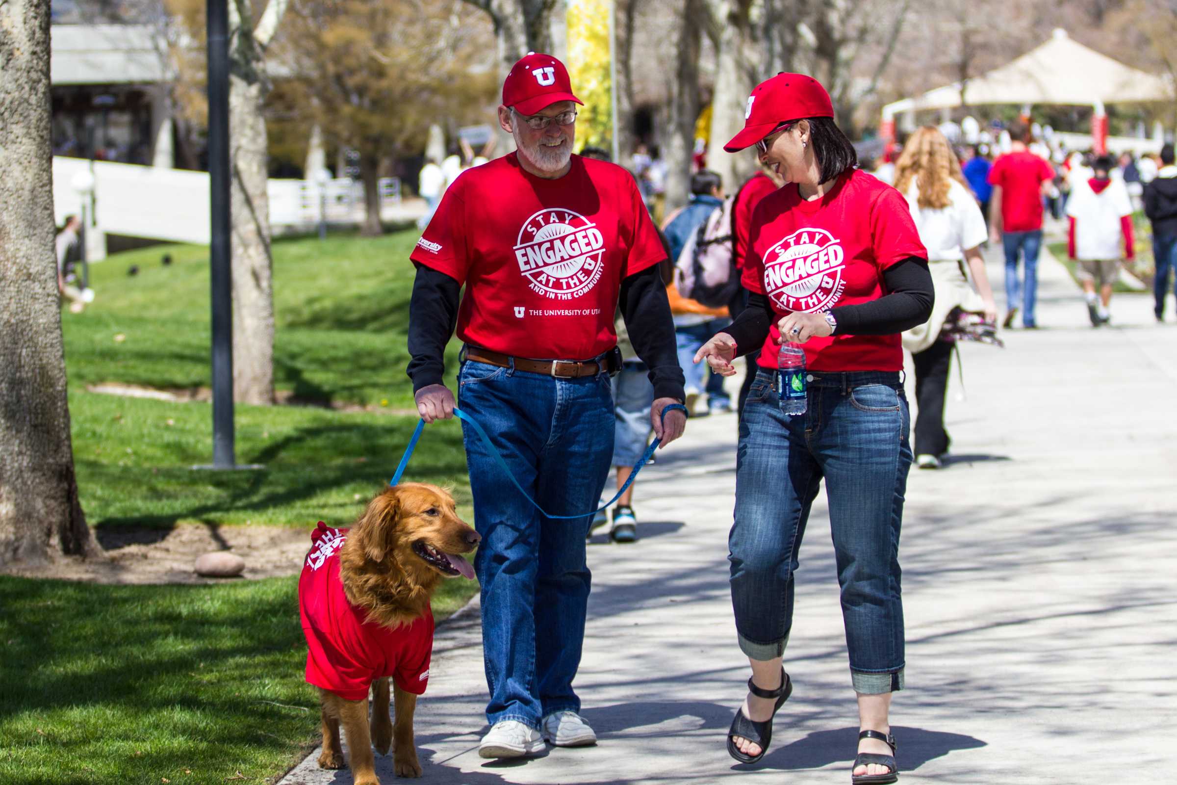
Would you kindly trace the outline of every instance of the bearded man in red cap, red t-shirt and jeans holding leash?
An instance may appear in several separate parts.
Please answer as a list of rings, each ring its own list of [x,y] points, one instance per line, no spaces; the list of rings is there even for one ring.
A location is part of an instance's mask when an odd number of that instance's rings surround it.
[[[483,535],[474,568],[491,694],[484,758],[597,740],[572,679],[590,588],[585,537],[613,452],[618,305],[651,368],[651,420],[663,446],[686,425],[678,410],[661,419],[684,398],[658,271],[666,253],[633,177],[572,154],[577,104],[559,60],[532,52],[517,62],[499,107],[517,151],[464,172],[412,253],[408,375],[421,417],[453,417],[443,377],[457,325],[463,411],[543,510],[578,515],[539,512],[463,423]]]

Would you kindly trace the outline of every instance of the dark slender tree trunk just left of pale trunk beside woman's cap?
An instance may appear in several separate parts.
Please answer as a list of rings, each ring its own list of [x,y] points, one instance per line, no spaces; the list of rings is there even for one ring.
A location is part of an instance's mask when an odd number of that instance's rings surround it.
[[[691,159],[694,122],[699,117],[699,14],[701,0],[686,0],[679,16],[674,45],[676,69],[671,82],[666,124],[666,212],[691,200]]]

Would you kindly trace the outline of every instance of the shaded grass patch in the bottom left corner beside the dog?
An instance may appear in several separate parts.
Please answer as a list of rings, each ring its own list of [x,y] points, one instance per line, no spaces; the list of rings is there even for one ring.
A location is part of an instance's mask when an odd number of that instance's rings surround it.
[[[0,577],[0,781],[266,781],[313,744],[294,578]]]

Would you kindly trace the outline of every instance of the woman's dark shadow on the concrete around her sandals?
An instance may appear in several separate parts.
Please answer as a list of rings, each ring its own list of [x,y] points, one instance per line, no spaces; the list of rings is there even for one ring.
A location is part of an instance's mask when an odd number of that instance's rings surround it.
[[[899,771],[912,771],[933,758],[940,758],[953,750],[973,750],[986,746],[985,741],[971,736],[926,731],[922,727],[892,726],[899,745],[896,759]],[[858,729],[839,727],[834,731],[816,731],[792,744],[770,750],[764,761],[757,766],[737,765],[737,771],[752,769],[820,769],[833,763],[850,763],[858,749]]]

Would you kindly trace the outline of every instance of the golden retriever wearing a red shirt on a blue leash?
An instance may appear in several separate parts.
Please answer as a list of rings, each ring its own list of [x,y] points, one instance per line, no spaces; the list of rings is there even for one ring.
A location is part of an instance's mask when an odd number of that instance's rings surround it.
[[[444,578],[474,577],[460,554],[481,538],[458,518],[446,491],[418,483],[385,488],[351,530],[320,523],[312,538],[299,606],[310,646],[307,681],[319,687],[322,703],[319,766],[347,765],[343,725],[355,785],[380,781],[372,747],[380,754],[392,749],[398,777],[420,777],[413,711],[428,679],[430,597]],[[388,711],[390,677],[395,720]]]

